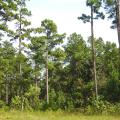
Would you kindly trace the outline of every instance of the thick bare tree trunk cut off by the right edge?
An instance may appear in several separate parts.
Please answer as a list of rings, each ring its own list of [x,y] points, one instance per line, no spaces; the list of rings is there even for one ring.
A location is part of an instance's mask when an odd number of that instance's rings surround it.
[[[116,0],[116,19],[117,19],[117,33],[118,33],[118,43],[119,43],[119,80],[120,80],[120,0]]]

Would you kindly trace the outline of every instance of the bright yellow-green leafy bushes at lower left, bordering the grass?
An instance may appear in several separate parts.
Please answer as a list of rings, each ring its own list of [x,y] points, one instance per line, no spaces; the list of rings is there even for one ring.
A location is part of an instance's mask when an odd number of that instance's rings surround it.
[[[21,109],[21,102],[23,100],[23,106],[24,109],[27,110],[40,110],[41,109],[41,103],[39,100],[39,92],[40,89],[36,88],[34,86],[30,86],[29,90],[25,93],[24,96],[19,97],[15,96],[12,99],[11,107],[14,109]]]

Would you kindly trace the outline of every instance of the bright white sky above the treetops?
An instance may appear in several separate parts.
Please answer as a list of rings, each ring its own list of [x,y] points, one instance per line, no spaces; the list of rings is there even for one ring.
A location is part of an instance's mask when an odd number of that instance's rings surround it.
[[[76,32],[85,40],[90,36],[90,23],[84,24],[77,17],[82,13],[89,14],[90,8],[86,7],[86,0],[30,0],[28,9],[32,12],[31,22],[38,27],[44,19],[53,20],[58,28],[58,33],[66,33],[67,36]],[[102,37],[104,41],[118,44],[117,31],[110,29],[111,21],[96,20],[94,23],[95,37]]]

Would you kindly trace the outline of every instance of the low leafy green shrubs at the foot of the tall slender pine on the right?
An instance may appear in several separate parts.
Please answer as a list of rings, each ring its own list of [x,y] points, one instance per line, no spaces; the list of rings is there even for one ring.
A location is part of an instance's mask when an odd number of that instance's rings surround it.
[[[112,104],[102,99],[97,101],[93,99],[91,104],[85,108],[84,113],[89,115],[119,115],[120,106],[119,103]]]

